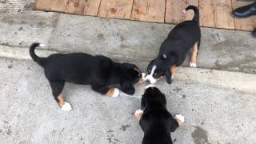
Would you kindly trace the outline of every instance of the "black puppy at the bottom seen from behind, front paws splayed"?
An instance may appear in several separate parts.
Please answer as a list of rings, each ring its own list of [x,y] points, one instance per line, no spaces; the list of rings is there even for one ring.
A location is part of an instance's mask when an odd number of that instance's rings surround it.
[[[142,144],[173,143],[170,132],[174,132],[184,122],[181,114],[175,118],[166,110],[166,97],[158,88],[147,86],[142,95],[142,110],[136,110],[135,116],[144,132]]]

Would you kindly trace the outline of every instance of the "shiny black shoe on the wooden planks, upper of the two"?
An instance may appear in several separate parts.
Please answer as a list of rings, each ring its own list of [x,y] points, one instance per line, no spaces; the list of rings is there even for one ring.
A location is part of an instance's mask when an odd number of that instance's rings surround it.
[[[247,18],[251,15],[256,15],[256,2],[250,5],[238,7],[232,11],[232,14],[237,18]]]

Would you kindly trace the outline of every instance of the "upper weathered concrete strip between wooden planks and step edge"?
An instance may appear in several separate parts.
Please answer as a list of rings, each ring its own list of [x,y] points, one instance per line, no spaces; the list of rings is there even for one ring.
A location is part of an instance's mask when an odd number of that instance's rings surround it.
[[[103,54],[138,62],[154,58],[174,27],[40,11],[2,16],[0,25],[2,45],[27,48],[32,42],[42,42],[48,46],[46,50]],[[198,66],[256,74],[255,38],[245,31],[202,28]]]

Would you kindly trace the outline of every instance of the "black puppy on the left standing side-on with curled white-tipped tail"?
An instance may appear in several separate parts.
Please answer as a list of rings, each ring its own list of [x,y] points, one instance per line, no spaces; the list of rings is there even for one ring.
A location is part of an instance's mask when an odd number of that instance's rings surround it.
[[[34,49],[37,46],[44,45],[32,44],[30,56],[44,68],[54,99],[62,110],[72,109],[62,96],[65,82],[91,85],[91,88],[100,94],[118,97],[119,90],[115,87],[126,94],[134,94],[134,84],[142,82],[145,76],[134,64],[113,62],[110,58],[100,55],[52,54],[48,58],[39,58],[34,54]]]

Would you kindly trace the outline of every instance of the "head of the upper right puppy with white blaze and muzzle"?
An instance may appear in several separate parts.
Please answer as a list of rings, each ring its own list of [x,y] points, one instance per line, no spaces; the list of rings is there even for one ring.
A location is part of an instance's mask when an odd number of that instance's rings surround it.
[[[159,78],[166,75],[166,82],[171,83],[172,74],[170,66],[174,63],[174,56],[167,58],[166,54],[162,54],[160,58],[156,58],[150,62],[146,70],[146,82],[154,84]]]

